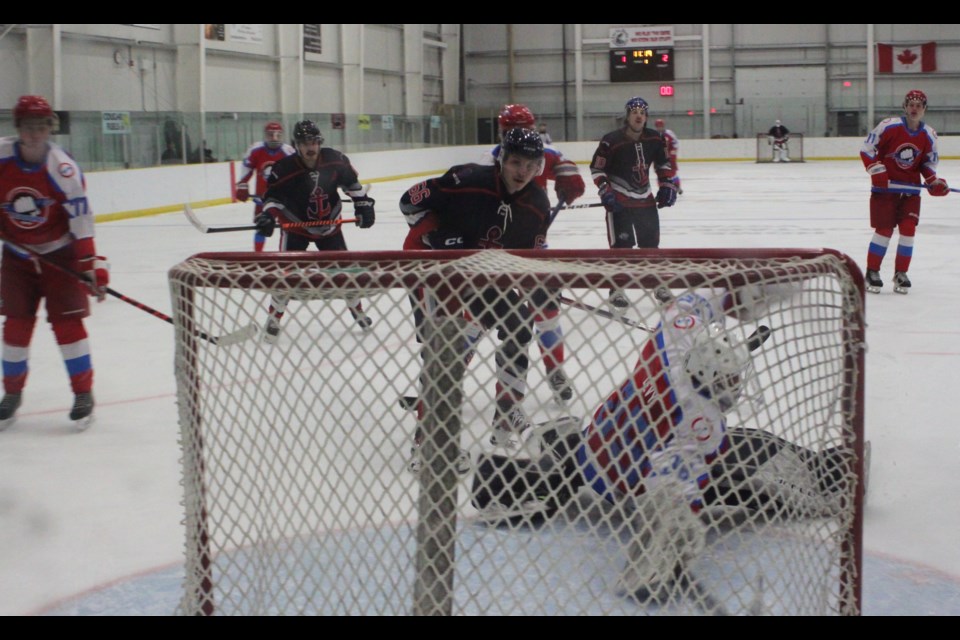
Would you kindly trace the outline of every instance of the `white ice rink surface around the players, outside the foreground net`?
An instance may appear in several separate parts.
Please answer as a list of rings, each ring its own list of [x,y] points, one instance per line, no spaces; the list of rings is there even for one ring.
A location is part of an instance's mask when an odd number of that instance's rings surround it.
[[[562,145],[561,145],[562,146]],[[399,169],[398,169],[399,172]],[[578,203],[595,202],[589,182]],[[960,186],[960,161],[940,175]],[[662,248],[821,248],[864,267],[870,181],[856,161],[683,163],[684,193],[661,211]],[[415,180],[374,184],[377,222],[346,225],[350,249],[399,249],[397,208]],[[551,198],[553,194],[551,193]],[[96,203],[92,203],[96,210]],[[252,204],[199,209],[243,224]],[[561,212],[558,249],[607,247],[601,208]],[[960,431],[949,394],[960,365],[960,194],[924,196],[909,295],[892,292],[893,245],[880,295],[867,297],[864,613],[960,614]],[[270,246],[276,246],[276,237]],[[246,251],[252,232],[201,234],[181,213],[102,223],[111,287],[172,314],[167,271],[199,252]],[[173,327],[114,297],[88,319],[96,422],[82,434],[62,360],[38,323],[18,419],[0,433],[0,614],[166,615],[179,599],[184,531]],[[375,326],[376,330],[376,326]]]

